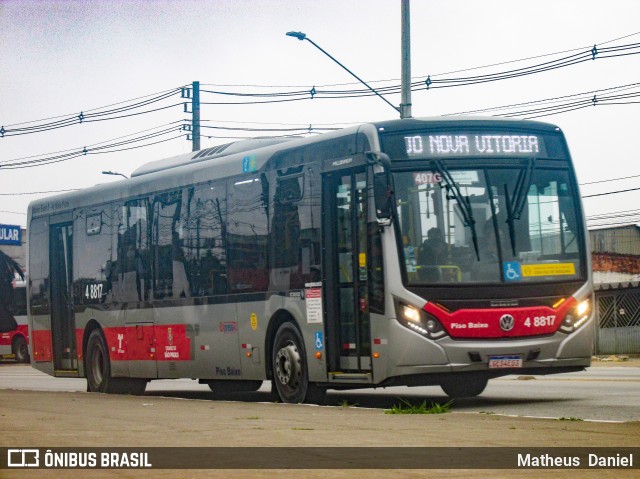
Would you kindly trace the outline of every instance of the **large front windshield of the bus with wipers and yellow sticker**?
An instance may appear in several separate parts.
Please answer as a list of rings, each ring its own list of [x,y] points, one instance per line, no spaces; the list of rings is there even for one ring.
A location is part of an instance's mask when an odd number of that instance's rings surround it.
[[[517,283],[583,276],[568,163],[433,160],[394,173],[409,284]]]

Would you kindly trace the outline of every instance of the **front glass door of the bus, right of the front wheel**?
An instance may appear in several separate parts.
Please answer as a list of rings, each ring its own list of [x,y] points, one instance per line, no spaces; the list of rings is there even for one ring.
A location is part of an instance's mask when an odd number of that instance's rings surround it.
[[[365,169],[324,177],[327,347],[332,372],[371,371]]]

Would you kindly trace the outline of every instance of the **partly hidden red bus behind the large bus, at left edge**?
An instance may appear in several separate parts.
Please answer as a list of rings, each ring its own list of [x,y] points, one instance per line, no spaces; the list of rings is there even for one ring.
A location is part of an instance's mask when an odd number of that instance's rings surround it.
[[[29,327],[27,325],[27,287],[23,280],[13,281],[13,295],[9,302],[9,313],[17,327],[0,333],[0,358],[15,359],[19,363],[29,362]]]

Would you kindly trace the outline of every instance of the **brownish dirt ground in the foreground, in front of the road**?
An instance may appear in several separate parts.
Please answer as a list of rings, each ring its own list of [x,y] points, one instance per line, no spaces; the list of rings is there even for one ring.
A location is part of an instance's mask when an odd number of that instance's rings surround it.
[[[2,447],[640,447],[640,422],[0,390]],[[640,460],[640,454],[636,461]],[[0,470],[2,478],[637,477],[635,470]]]

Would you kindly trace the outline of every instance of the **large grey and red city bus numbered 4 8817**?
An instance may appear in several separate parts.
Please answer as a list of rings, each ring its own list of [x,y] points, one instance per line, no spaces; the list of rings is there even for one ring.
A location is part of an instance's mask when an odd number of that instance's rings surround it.
[[[193,378],[271,381],[287,403],[396,385],[470,397],[591,361],[587,230],[551,124],[239,141],[34,201],[28,225],[32,364],[89,391]]]

